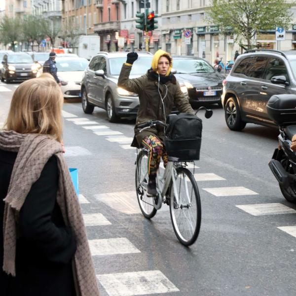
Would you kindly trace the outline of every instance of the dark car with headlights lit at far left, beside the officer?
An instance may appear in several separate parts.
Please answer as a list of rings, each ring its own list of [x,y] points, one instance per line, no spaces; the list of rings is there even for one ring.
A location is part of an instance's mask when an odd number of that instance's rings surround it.
[[[35,78],[38,71],[38,65],[27,53],[5,53],[2,65],[1,81],[6,83]]]

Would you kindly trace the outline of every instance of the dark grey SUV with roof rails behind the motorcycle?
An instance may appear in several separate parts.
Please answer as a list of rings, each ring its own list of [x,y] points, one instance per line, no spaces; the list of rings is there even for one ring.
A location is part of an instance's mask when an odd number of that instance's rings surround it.
[[[248,122],[275,126],[266,104],[277,94],[296,94],[296,51],[255,49],[240,55],[223,80],[222,106],[228,128],[239,131]]]

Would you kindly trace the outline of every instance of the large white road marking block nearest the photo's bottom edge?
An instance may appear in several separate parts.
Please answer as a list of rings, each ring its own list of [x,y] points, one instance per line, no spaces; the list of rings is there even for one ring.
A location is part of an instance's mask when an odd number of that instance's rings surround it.
[[[110,296],[162,294],[180,291],[160,270],[98,274]]]

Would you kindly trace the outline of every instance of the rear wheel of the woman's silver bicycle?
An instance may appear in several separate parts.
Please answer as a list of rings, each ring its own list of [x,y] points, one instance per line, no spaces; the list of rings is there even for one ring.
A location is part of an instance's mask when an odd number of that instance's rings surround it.
[[[157,210],[153,206],[153,198],[147,196],[148,185],[148,152],[141,150],[136,166],[136,192],[141,212],[144,217],[151,219]]]

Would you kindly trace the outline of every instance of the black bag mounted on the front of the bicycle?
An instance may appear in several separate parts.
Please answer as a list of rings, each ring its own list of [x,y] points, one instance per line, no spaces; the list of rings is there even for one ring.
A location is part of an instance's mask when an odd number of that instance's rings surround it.
[[[202,121],[188,113],[172,114],[167,118],[170,125],[165,130],[164,145],[169,156],[179,161],[198,160],[201,145]]]

